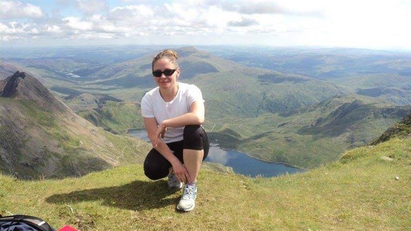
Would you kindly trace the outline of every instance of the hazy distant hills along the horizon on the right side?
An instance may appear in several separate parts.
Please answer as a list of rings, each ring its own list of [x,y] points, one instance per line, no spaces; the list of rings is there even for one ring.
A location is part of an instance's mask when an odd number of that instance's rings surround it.
[[[411,54],[350,48],[203,46],[223,59],[250,67],[325,80],[351,93],[411,104]]]

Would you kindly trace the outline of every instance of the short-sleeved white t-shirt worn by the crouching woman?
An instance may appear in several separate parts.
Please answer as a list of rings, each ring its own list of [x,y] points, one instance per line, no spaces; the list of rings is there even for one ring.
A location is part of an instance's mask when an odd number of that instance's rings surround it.
[[[160,95],[160,88],[156,87],[145,93],[141,100],[141,114],[145,118],[156,118],[157,124],[164,120],[178,117],[190,112],[190,105],[196,100],[202,99],[201,91],[194,84],[178,83],[176,97],[165,102]],[[164,143],[171,143],[183,140],[184,126],[167,127],[164,134]]]

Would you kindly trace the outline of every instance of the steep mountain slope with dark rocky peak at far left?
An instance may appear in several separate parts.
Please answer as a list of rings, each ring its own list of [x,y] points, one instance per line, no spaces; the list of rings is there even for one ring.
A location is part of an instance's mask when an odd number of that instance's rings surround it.
[[[150,146],[90,124],[33,76],[0,82],[0,170],[19,178],[79,176],[141,163]]]

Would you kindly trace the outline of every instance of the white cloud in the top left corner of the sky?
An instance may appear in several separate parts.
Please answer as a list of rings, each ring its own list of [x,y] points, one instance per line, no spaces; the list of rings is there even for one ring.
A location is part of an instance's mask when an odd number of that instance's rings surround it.
[[[40,7],[32,4],[20,1],[0,1],[0,18],[39,18],[44,15]]]

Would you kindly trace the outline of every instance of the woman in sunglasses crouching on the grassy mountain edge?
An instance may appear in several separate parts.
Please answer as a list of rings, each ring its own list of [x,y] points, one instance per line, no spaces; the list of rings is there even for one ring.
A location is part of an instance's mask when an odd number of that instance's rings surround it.
[[[193,210],[197,195],[197,175],[209,151],[204,122],[204,101],[200,89],[177,82],[180,68],[173,50],[158,53],[152,63],[158,87],[141,100],[148,138],[153,149],[144,161],[144,173],[158,180],[169,176],[170,188],[182,188],[177,209]]]

